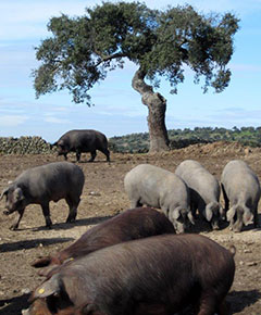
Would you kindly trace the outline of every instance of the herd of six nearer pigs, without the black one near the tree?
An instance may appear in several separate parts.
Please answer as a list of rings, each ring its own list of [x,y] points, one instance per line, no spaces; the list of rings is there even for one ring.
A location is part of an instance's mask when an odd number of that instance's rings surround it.
[[[49,203],[61,199],[69,205],[66,222],[74,222],[84,182],[82,168],[70,162],[26,169],[0,197],[5,197],[5,214],[17,213],[11,229],[18,228],[30,203],[41,205],[50,228]],[[250,223],[258,227],[260,184],[253,171],[244,161],[231,161],[220,185],[192,160],[175,173],[140,164],[125,175],[124,188],[129,210],[33,263],[45,280],[23,314],[173,315],[187,307],[199,315],[229,314],[225,297],[236,249],[184,231],[197,217],[213,229],[225,219],[234,231]]]

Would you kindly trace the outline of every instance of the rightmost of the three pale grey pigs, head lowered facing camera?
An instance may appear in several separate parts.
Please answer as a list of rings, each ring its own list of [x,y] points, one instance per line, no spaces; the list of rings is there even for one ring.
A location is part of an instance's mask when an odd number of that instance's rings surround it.
[[[221,175],[221,187],[231,229],[241,231],[243,226],[252,220],[254,227],[258,227],[260,184],[258,176],[248,164],[241,160],[228,162]]]

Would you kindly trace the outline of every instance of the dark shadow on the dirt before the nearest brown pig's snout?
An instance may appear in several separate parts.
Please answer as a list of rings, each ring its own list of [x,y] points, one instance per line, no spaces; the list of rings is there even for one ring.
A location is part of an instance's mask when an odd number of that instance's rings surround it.
[[[22,314],[22,310],[28,308],[29,293],[15,297],[12,299],[0,300],[0,314],[17,315]]]

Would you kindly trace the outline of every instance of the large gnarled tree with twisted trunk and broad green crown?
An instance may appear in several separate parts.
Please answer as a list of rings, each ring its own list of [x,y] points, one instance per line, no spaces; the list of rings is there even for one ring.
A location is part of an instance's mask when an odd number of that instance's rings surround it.
[[[140,2],[102,2],[79,17],[52,17],[48,29],[52,37],[36,49],[41,62],[33,73],[36,96],[67,89],[74,102],[90,105],[94,85],[129,60],[138,66],[132,86],[148,106],[150,151],[161,151],[169,146],[166,100],[153,89],[165,78],[175,93],[188,66],[196,84],[204,78],[204,92],[223,91],[238,20],[231,13],[199,14],[190,5],[159,11]]]

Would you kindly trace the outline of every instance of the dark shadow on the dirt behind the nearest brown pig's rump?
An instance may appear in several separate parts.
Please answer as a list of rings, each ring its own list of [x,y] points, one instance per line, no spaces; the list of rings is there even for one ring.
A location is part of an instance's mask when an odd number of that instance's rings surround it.
[[[227,294],[226,301],[231,304],[232,314],[244,311],[259,301],[261,292],[258,290],[250,291],[232,291]]]

